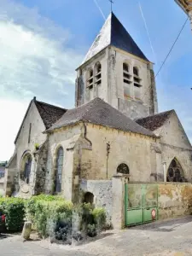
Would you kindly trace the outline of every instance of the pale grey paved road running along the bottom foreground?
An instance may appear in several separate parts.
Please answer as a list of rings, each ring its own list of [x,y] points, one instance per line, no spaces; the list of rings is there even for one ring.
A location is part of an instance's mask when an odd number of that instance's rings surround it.
[[[0,239],[0,256],[189,256],[192,255],[192,216],[110,231],[103,238],[79,247],[48,241],[20,241],[20,236]]]

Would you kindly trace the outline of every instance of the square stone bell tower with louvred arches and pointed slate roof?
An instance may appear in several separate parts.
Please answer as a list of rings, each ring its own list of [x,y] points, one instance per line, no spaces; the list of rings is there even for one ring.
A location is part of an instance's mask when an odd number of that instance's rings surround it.
[[[153,64],[113,12],[76,71],[76,107],[100,97],[131,119],[157,113]]]

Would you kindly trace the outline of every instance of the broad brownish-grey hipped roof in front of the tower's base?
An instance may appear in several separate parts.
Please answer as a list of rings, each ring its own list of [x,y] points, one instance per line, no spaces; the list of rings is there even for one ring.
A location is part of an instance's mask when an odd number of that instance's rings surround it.
[[[126,117],[125,114],[119,112],[119,110],[113,108],[100,98],[95,98],[91,102],[78,108],[67,110],[61,119],[52,125],[48,131],[53,131],[67,125],[73,125],[80,121],[155,137],[152,131],[148,131],[138,125],[135,121]]]

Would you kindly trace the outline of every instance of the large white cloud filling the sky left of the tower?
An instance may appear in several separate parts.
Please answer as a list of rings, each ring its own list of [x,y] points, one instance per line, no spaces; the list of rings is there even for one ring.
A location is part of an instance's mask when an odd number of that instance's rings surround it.
[[[0,1],[0,160],[13,153],[15,135],[33,96],[71,107],[74,68],[83,57],[67,48],[70,37],[37,9]]]

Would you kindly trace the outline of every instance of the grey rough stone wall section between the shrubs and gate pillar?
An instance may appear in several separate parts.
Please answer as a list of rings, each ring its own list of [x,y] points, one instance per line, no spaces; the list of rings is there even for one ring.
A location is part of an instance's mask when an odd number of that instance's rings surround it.
[[[111,224],[112,219],[112,181],[111,180],[85,180],[80,183],[80,189],[83,192],[82,197],[86,192],[94,195],[94,204],[96,207],[102,207],[107,213],[107,223]]]

